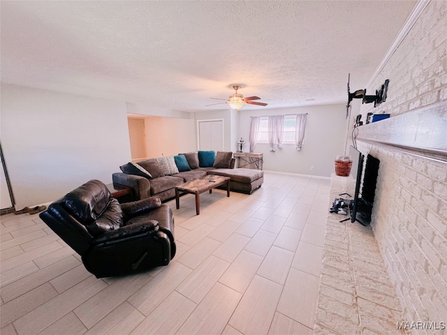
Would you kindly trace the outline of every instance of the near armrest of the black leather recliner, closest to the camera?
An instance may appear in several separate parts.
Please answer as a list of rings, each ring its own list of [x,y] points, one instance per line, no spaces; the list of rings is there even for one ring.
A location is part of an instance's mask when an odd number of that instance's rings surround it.
[[[93,244],[115,244],[132,237],[156,234],[159,231],[159,221],[147,220],[144,223],[125,225],[117,230],[108,230],[92,241]]]

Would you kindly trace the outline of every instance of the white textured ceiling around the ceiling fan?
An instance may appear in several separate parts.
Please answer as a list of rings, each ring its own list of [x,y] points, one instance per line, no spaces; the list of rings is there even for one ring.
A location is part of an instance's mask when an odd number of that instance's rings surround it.
[[[2,0],[1,81],[187,112],[226,108],[205,105],[230,84],[261,108],[346,103],[415,5]]]

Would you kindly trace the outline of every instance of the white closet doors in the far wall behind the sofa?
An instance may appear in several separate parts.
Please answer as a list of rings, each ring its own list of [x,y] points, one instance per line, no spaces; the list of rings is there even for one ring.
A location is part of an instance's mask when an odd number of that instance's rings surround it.
[[[223,151],[223,120],[198,121],[198,149]]]

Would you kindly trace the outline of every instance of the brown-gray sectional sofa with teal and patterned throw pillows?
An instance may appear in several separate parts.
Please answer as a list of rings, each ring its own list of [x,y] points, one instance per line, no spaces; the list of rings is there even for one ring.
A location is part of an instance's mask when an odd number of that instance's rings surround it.
[[[175,198],[175,186],[207,174],[230,177],[230,190],[251,194],[263,184],[263,171],[235,169],[231,151],[196,151],[177,156],[151,158],[120,166],[113,184],[133,188],[135,199],[156,195],[162,201]]]

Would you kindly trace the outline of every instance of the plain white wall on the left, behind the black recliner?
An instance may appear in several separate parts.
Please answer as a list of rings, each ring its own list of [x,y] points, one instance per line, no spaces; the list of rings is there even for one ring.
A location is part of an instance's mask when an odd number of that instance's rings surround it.
[[[131,159],[126,104],[2,84],[1,144],[18,209],[108,184]]]

